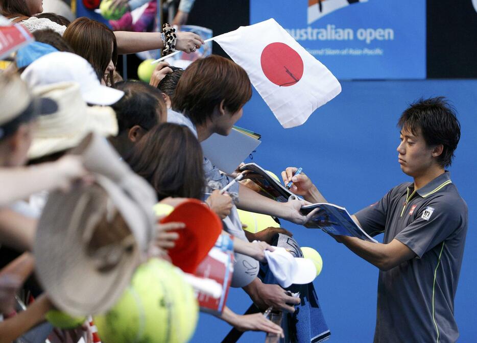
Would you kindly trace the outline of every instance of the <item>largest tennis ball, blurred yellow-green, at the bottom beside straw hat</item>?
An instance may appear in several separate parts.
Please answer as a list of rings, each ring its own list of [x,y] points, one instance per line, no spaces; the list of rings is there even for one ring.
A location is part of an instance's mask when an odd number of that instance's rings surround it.
[[[113,308],[93,320],[103,343],[185,343],[195,331],[198,311],[182,272],[151,259],[137,268]]]

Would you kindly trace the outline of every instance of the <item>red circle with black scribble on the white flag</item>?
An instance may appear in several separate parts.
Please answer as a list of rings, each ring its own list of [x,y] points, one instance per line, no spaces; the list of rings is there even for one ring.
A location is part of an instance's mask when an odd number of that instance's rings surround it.
[[[293,86],[303,76],[303,60],[289,45],[268,44],[260,56],[265,76],[280,87]]]

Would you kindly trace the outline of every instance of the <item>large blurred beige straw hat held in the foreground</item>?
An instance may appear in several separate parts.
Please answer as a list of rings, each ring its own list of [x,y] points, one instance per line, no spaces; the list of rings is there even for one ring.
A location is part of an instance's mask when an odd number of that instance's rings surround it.
[[[73,315],[97,314],[120,298],[145,256],[157,199],[102,137],[88,135],[73,152],[96,181],[50,194],[33,252],[38,279],[55,306]]]

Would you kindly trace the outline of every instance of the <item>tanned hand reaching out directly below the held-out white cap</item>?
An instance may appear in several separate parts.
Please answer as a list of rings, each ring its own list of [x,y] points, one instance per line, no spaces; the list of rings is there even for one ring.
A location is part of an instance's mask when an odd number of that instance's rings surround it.
[[[252,284],[244,287],[244,290],[262,311],[272,306],[274,310],[293,313],[295,312],[293,305],[298,305],[301,302],[300,298],[287,295],[279,285],[262,283],[259,279],[252,281]]]

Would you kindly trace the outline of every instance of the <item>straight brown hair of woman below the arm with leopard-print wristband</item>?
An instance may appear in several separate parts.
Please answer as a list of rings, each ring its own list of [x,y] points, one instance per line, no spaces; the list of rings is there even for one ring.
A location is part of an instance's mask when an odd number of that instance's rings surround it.
[[[114,66],[117,63],[116,36],[111,29],[99,21],[86,17],[78,18],[69,24],[63,38],[71,45],[76,54],[92,65],[100,80],[104,79],[104,72],[109,61],[112,60]],[[113,83],[112,73],[110,73],[109,80]]]

